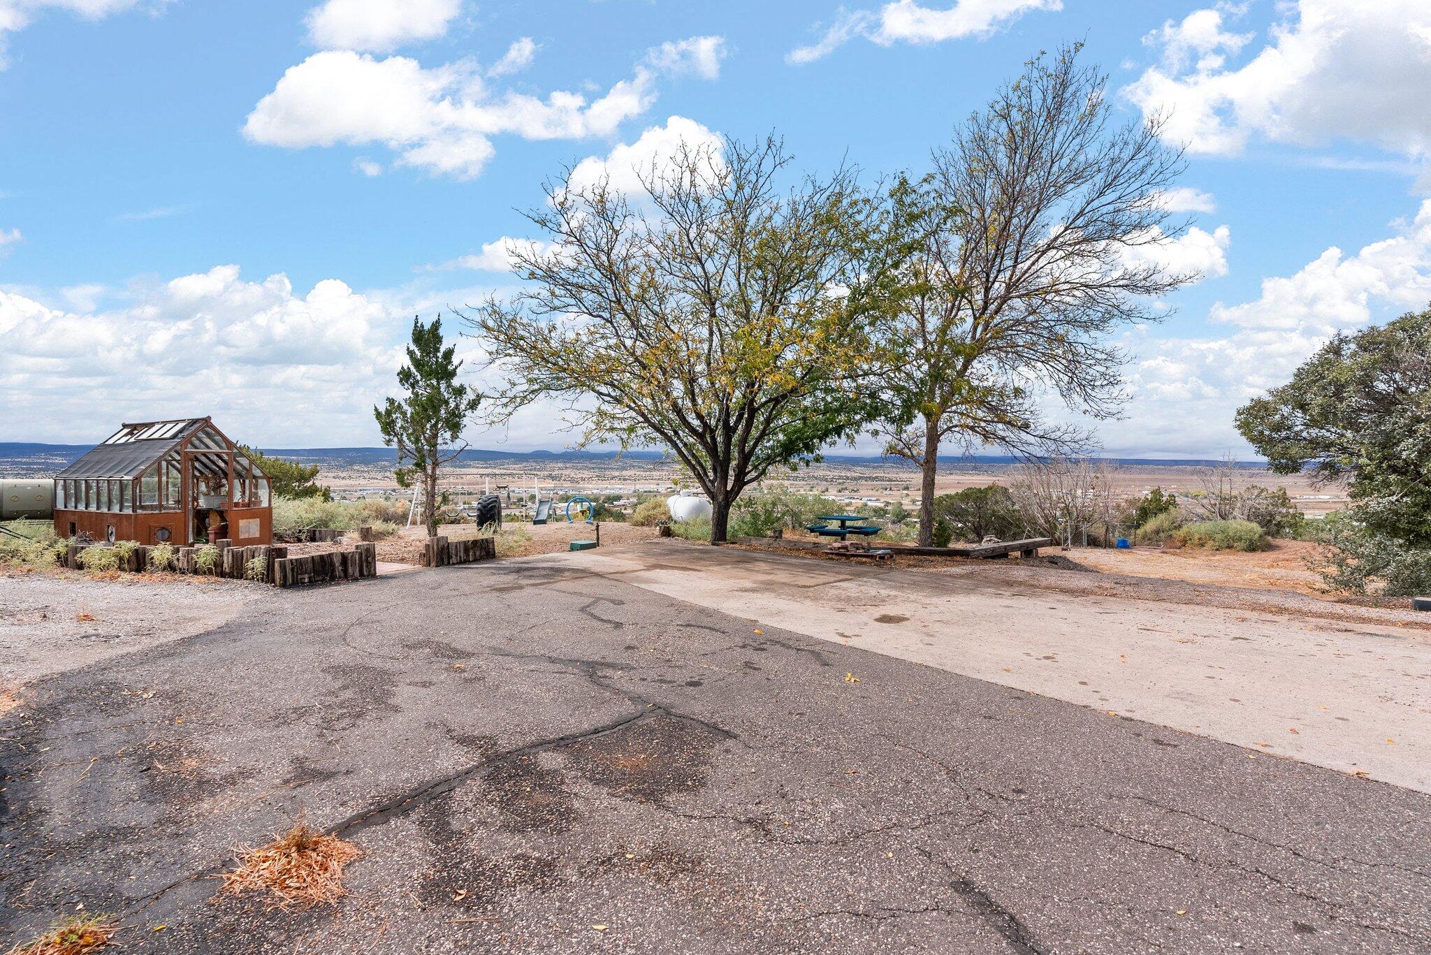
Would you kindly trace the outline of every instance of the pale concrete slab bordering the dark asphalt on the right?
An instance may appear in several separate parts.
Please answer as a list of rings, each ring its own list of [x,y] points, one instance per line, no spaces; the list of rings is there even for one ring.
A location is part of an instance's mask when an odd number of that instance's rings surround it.
[[[1420,630],[1069,597],[680,541],[532,560],[1431,792],[1431,637]]]

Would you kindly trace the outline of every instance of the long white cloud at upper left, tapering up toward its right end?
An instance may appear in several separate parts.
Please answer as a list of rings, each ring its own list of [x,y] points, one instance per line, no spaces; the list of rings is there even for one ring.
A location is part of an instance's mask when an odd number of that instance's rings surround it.
[[[492,137],[584,139],[611,136],[655,102],[660,73],[704,70],[714,47],[697,39],[684,53],[651,53],[631,79],[588,100],[554,92],[545,99],[488,89],[474,63],[425,69],[414,59],[375,59],[352,50],[315,53],[289,67],[249,113],[243,135],[268,146],[384,145],[398,163],[472,179],[495,153]],[[663,47],[664,49],[664,47]]]

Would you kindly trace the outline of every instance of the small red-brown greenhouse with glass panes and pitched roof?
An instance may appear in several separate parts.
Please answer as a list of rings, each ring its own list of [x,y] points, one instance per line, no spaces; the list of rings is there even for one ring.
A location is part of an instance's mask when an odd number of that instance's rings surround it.
[[[54,533],[268,544],[269,480],[209,418],[126,424],[54,477]]]

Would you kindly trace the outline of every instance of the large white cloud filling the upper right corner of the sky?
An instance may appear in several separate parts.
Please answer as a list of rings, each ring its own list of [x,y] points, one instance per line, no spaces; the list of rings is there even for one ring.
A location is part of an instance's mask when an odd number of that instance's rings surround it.
[[[1252,136],[1315,146],[1369,143],[1431,155],[1431,3],[1295,0],[1269,43],[1239,67],[1246,43],[1224,11],[1199,10],[1153,36],[1163,64],[1125,89],[1168,136],[1196,153],[1241,153]]]

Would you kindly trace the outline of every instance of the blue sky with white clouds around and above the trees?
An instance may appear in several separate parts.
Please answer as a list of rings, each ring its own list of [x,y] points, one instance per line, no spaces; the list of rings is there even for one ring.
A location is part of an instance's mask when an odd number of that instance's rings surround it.
[[[1070,40],[1128,120],[1172,113],[1168,255],[1205,272],[1126,336],[1103,445],[1244,454],[1246,397],[1431,299],[1421,0],[0,0],[0,441],[199,412],[376,444],[411,315],[509,288],[494,243],[538,238],[514,209],[562,163],[776,130],[806,169],[919,170]]]

